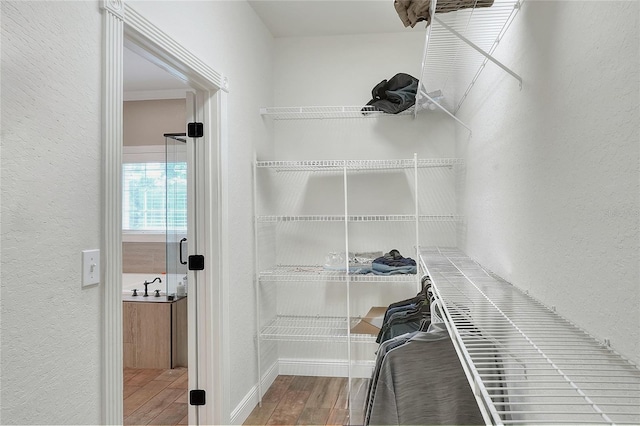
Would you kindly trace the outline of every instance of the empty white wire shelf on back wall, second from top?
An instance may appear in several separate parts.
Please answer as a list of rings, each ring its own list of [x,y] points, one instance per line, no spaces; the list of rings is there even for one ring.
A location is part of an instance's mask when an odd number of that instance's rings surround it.
[[[301,160],[301,161],[256,161],[256,168],[278,171],[336,171],[348,170],[411,169],[429,167],[452,167],[464,164],[461,158],[418,158],[397,160]]]

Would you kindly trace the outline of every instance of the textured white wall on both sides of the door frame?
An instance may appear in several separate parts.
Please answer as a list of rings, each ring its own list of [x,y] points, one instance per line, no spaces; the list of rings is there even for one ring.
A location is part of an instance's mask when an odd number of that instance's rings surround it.
[[[248,224],[272,37],[245,2],[133,4],[230,81],[233,409],[257,374]],[[101,36],[99,2],[2,2],[3,424],[99,423],[100,290],[81,290],[80,252],[100,246]]]

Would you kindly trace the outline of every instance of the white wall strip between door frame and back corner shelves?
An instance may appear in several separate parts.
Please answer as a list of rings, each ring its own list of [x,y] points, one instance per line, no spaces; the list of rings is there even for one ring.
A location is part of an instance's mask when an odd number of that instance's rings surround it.
[[[270,155],[259,108],[273,104],[273,38],[244,1],[130,2],[213,69],[229,78],[228,138],[223,161],[229,171],[226,226],[231,236],[229,312],[230,409],[257,383],[253,274],[253,152]],[[227,413],[228,414],[228,413]]]

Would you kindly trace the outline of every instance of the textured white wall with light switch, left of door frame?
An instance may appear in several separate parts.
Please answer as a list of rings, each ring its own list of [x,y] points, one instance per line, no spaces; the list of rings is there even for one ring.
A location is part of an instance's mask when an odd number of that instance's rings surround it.
[[[101,15],[2,2],[2,424],[100,421]]]

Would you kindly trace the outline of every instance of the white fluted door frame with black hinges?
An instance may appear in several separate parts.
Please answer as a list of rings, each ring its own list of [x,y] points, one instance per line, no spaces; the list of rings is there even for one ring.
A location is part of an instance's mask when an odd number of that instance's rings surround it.
[[[228,83],[196,56],[146,20],[123,0],[102,0],[103,12],[103,216],[102,216],[102,424],[123,422],[122,342],[122,102],[123,51],[138,48],[145,58],[196,89],[196,117],[204,123],[204,138],[196,145],[198,161],[198,247],[205,269],[197,275],[197,297],[189,302],[189,388],[206,391],[204,406],[189,406],[190,424],[229,422],[229,359],[223,339],[228,339],[227,250],[222,226],[227,197],[222,155],[227,146],[226,105]],[[191,282],[191,281],[190,281]],[[197,307],[196,307],[197,301]],[[197,315],[197,316],[196,316]],[[198,322],[195,335],[192,325]],[[197,375],[196,371],[197,370]],[[225,392],[226,390],[226,392]]]

